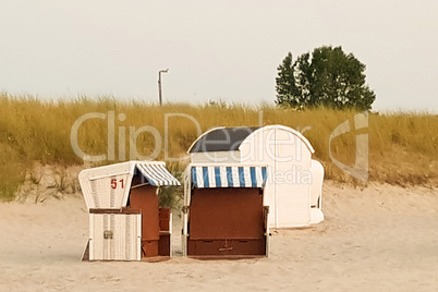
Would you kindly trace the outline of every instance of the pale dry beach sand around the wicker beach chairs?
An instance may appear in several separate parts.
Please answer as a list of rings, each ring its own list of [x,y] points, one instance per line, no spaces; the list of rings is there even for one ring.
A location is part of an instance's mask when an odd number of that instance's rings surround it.
[[[272,230],[269,258],[182,258],[175,236],[168,261],[83,263],[82,197],[3,203],[0,291],[438,290],[438,188],[328,182],[323,206],[318,226]]]

